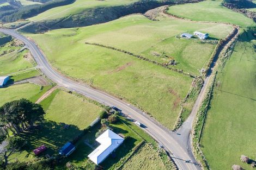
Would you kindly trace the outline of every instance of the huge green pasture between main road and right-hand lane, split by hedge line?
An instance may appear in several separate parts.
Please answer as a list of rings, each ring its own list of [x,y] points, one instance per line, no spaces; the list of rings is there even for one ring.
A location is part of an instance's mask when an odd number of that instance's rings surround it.
[[[143,15],[132,15],[97,26],[27,35],[39,44],[58,70],[141,106],[172,128],[180,111],[180,102],[191,86],[191,78],[134,56],[84,42],[102,43],[159,62],[164,60],[152,52],[166,53],[180,62],[177,68],[198,74],[197,69],[208,64],[215,46],[198,40],[177,39],[175,35],[185,30],[201,30],[221,39],[231,29],[225,24],[184,22],[165,17],[161,21],[151,21]]]

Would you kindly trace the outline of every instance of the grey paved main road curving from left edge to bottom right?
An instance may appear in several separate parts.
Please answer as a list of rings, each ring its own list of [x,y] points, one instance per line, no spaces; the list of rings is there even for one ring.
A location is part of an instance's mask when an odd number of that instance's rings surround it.
[[[189,152],[188,149],[188,146],[190,146],[190,143],[188,142],[188,135],[191,129],[188,129],[186,131],[186,136],[182,135],[184,136],[184,140],[182,140],[181,138],[176,139],[175,136],[179,136],[179,134],[172,133],[171,131],[163,128],[152,118],[143,114],[143,112],[137,109],[135,106],[127,104],[123,100],[110,96],[105,92],[95,90],[92,87],[70,80],[64,77],[62,74],[58,73],[57,71],[53,70],[51,65],[47,62],[44,54],[42,54],[42,52],[40,51],[39,47],[36,46],[33,41],[27,39],[25,36],[22,36],[19,33],[15,32],[15,30],[10,29],[0,28],[0,32],[14,36],[24,42],[27,48],[31,51],[41,71],[59,86],[64,86],[71,91],[81,93],[82,95],[92,98],[102,104],[117,106],[124,112],[124,114],[144,124],[144,130],[147,131],[149,135],[153,136],[156,141],[161,143],[164,148],[171,153],[171,156],[179,169],[200,169],[193,155]]]

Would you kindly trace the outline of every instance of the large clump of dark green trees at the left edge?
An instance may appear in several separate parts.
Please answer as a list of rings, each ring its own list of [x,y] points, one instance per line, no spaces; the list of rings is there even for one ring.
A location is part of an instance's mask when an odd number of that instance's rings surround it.
[[[41,122],[44,114],[41,105],[22,98],[1,106],[0,125],[7,136],[9,136],[8,130],[13,134],[19,134],[29,130],[35,122]]]

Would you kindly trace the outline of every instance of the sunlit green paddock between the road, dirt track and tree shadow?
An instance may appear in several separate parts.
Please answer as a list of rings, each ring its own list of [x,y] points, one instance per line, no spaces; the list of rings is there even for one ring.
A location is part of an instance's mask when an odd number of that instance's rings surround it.
[[[46,119],[85,129],[99,115],[101,108],[65,91],[58,91],[47,107]]]

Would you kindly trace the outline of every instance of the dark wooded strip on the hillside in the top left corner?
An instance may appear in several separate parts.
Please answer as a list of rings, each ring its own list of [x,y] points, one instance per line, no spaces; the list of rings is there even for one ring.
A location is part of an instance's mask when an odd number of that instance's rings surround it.
[[[11,2],[16,3],[17,1],[11,0]],[[59,7],[62,5],[68,5],[73,2],[75,2],[75,0],[56,0],[56,1],[49,1],[45,4],[28,5],[20,8],[17,8],[17,5],[12,5],[10,3],[9,6],[0,8],[0,21],[15,22],[17,20],[38,15],[41,12],[44,12],[48,9]]]

